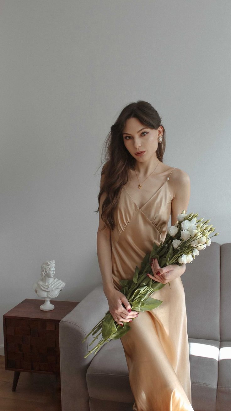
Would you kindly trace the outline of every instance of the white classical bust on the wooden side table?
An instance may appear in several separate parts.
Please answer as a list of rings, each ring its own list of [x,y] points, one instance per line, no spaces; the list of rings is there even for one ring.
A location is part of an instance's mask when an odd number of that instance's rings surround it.
[[[53,304],[50,304],[50,299],[57,297],[66,285],[62,280],[55,278],[54,275],[55,260],[45,261],[41,265],[41,279],[33,284],[35,293],[45,300],[44,304],[40,306],[43,311],[55,308]]]

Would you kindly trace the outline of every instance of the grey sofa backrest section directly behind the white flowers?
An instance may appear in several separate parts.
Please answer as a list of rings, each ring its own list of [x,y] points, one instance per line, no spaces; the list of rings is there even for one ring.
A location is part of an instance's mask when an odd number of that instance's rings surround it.
[[[186,270],[181,276],[185,289],[189,338],[220,341],[221,247],[219,243],[211,241],[210,246],[199,251],[199,255],[195,256],[195,260],[192,263],[186,264]],[[230,250],[230,247],[228,248]],[[228,254],[226,248],[224,248],[223,254],[226,258]],[[226,270],[226,260],[222,261],[222,267]],[[226,273],[222,273],[222,275],[225,285]],[[222,299],[222,304],[228,305],[226,298],[226,302],[224,302],[224,296],[222,296]],[[229,324],[230,321],[229,319]],[[223,328],[222,325],[222,332],[224,334]]]

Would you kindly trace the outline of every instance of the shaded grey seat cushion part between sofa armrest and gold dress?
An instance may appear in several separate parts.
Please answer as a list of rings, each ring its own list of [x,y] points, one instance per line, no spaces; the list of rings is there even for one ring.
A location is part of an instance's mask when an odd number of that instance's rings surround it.
[[[105,344],[91,360],[86,374],[89,397],[134,403],[128,366],[120,339]]]

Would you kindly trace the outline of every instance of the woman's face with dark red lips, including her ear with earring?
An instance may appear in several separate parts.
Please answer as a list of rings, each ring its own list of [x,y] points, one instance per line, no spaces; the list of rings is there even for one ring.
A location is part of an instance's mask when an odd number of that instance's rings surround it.
[[[126,149],[138,161],[145,162],[151,157],[156,157],[158,148],[158,136],[162,136],[163,129],[160,126],[157,130],[145,127],[137,118],[126,120],[123,130],[123,139]],[[137,151],[145,151],[138,156]]]

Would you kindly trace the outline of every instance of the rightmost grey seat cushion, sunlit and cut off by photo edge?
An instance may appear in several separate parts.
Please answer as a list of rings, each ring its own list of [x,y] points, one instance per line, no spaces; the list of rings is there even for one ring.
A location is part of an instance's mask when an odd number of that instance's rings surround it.
[[[216,406],[217,411],[231,409],[231,341],[220,344]]]

